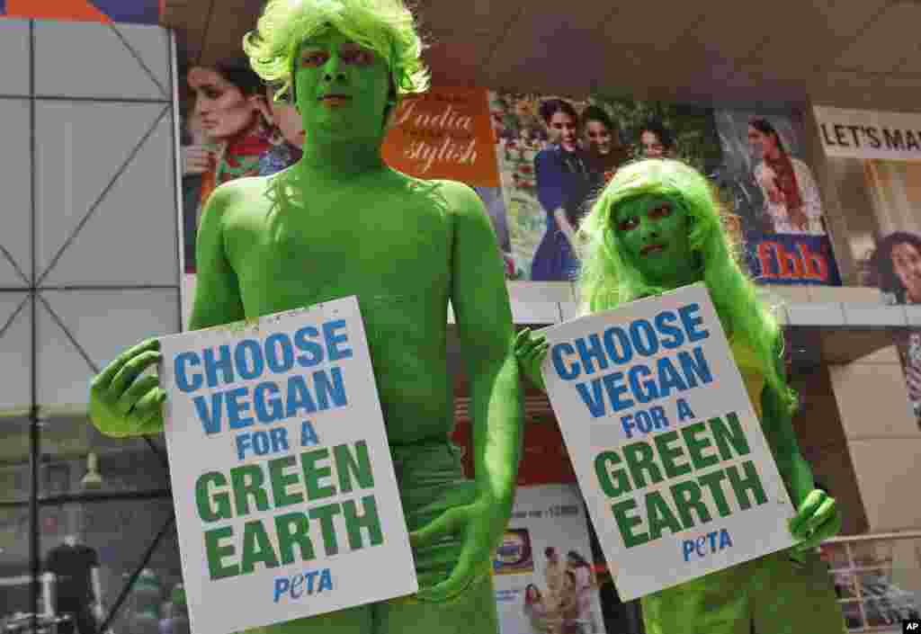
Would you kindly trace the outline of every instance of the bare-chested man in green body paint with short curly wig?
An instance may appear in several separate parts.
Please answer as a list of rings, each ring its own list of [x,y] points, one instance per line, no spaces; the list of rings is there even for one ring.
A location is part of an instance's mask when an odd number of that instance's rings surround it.
[[[518,473],[519,370],[503,263],[480,199],[380,158],[397,101],[427,85],[413,16],[402,0],[272,0],[244,49],[264,79],[293,92],[307,140],[291,168],[229,182],[209,198],[190,327],[358,297],[422,588],[265,630],[495,632],[490,575]],[[449,300],[471,377],[473,481],[448,440]],[[90,393],[99,429],[162,429],[166,394],[157,377],[138,378],[159,358],[148,340],[99,374]],[[387,582],[387,570],[368,574]]]

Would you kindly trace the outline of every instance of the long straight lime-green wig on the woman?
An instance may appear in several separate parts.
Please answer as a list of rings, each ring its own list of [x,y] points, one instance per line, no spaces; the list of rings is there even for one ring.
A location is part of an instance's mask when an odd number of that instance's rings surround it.
[[[710,291],[723,328],[752,347],[762,360],[765,382],[774,388],[779,405],[792,414],[797,397],[787,385],[779,363],[783,350],[780,327],[758,299],[752,280],[740,268],[737,246],[723,229],[712,185],[682,161],[651,158],[625,165],[592,205],[579,227],[585,244],[578,279],[582,311],[605,311],[668,290],[647,284],[629,258],[624,257],[626,251],[615,230],[617,205],[647,194],[666,196],[687,211],[699,279]]]

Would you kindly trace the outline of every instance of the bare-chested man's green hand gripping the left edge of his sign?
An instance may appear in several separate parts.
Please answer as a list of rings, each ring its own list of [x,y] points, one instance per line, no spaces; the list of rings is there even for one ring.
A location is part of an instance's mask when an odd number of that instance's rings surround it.
[[[146,436],[163,430],[160,405],[167,394],[156,375],[138,379],[159,362],[159,347],[157,339],[146,339],[128,348],[90,383],[89,418],[106,436]]]

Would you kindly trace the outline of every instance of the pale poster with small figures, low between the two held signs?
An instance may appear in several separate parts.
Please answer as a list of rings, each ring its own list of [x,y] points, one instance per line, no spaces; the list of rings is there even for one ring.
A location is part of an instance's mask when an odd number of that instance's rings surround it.
[[[519,487],[495,554],[502,634],[603,634],[589,530],[575,485]]]

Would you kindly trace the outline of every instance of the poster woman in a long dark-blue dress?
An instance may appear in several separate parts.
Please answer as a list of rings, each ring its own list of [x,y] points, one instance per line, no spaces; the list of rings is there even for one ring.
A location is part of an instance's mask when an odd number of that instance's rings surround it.
[[[552,145],[534,158],[534,171],[547,226],[531,261],[530,278],[569,280],[576,275],[578,260],[574,248],[576,228],[566,215],[566,205],[586,192],[588,158],[578,147],[578,114],[571,103],[545,100],[541,117]]]

